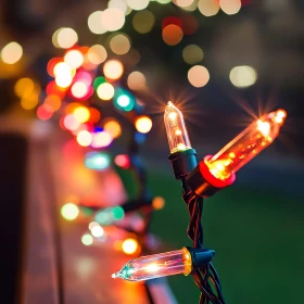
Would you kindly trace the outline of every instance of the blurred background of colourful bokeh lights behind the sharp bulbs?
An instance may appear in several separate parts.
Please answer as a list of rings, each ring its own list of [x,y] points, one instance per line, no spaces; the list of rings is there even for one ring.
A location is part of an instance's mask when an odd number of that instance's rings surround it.
[[[262,114],[287,111],[274,144],[206,200],[203,225],[227,303],[301,302],[304,1],[1,0],[0,8],[5,303],[149,303],[143,284],[111,279],[139,251],[129,256],[111,238],[94,245],[88,219],[73,212],[122,204],[143,187],[157,198],[159,210],[139,220],[149,217],[155,252],[190,245],[167,160],[168,100],[182,111],[199,160]],[[160,303],[199,301],[190,277],[169,277],[168,286],[172,300]]]

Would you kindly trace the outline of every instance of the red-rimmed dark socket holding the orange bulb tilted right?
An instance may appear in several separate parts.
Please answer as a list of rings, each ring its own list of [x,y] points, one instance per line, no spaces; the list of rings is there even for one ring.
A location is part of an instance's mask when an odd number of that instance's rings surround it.
[[[227,179],[216,178],[210,172],[206,164],[212,155],[207,155],[203,161],[187,176],[186,182],[197,195],[207,198],[218,190],[232,185],[236,180],[236,174],[231,174]]]

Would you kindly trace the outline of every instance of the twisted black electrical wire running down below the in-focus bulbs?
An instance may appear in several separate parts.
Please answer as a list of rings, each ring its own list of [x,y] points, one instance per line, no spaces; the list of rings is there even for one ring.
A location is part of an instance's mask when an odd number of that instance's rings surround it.
[[[194,248],[203,248],[204,233],[202,226],[202,213],[203,213],[203,199],[198,197],[192,191],[189,191],[185,180],[182,180],[183,192],[182,199],[187,204],[190,215],[190,221],[187,229],[188,237],[193,241]],[[197,287],[201,291],[200,304],[225,304],[225,300],[221,293],[221,287],[219,277],[212,265],[207,265],[194,269],[193,279]]]

